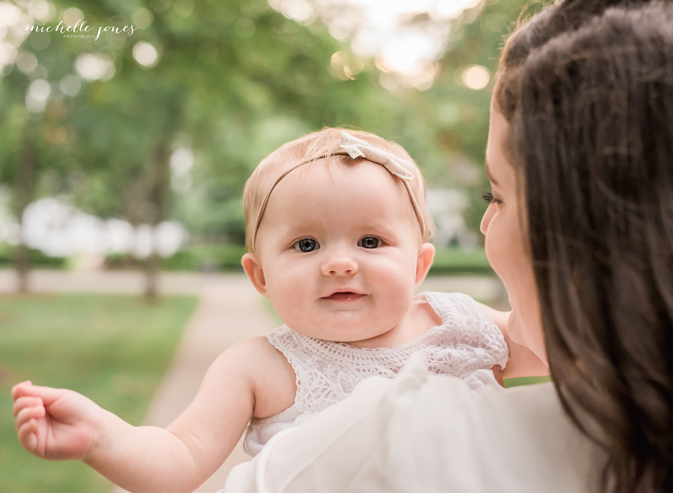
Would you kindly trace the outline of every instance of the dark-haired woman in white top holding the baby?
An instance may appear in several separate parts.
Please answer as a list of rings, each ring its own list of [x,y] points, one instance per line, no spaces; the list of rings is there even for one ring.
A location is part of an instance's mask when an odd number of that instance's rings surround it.
[[[508,332],[554,384],[422,361],[278,435],[226,492],[673,491],[673,6],[566,0],[508,40],[486,151]]]

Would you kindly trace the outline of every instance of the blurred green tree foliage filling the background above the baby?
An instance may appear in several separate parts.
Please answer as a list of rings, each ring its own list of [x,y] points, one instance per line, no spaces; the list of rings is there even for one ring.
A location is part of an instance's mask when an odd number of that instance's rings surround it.
[[[142,27],[97,39],[32,32],[18,47],[0,78],[0,181],[11,184],[18,218],[36,196],[63,192],[97,216],[135,226],[179,218],[199,240],[242,242],[241,189],[258,161],[303,133],[351,125],[398,140],[432,184],[469,189],[469,224],[478,226],[485,182],[474,181],[474,167],[483,161],[491,86],[468,89],[460,75],[469,65],[493,74],[520,0],[488,0],[447,23],[449,46],[425,92],[383,89],[373,61],[355,57],[324,23],[302,26],[264,0],[50,5],[47,26],[80,9],[94,33]],[[48,97],[31,111],[26,94],[40,88]],[[175,194],[177,148],[195,164]],[[144,265],[151,298],[158,255]]]

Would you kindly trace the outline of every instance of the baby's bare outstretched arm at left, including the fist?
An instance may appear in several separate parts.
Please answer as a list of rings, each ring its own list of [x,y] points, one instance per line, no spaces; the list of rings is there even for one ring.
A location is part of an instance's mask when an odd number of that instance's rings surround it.
[[[287,368],[276,353],[261,338],[226,350],[192,404],[166,429],[131,426],[77,392],[23,382],[12,389],[19,441],[42,458],[82,459],[136,493],[192,492],[231,453],[258,414],[257,400],[265,412],[276,411],[263,395],[268,389],[271,397],[285,389],[280,397],[287,401]]]

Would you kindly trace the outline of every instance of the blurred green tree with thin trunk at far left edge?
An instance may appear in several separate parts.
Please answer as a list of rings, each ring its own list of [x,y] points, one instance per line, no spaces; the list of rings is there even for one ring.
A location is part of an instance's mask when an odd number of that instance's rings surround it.
[[[62,120],[70,101],[53,97],[55,87],[69,72],[61,64],[65,40],[45,42],[28,36],[18,48],[13,65],[0,78],[0,183],[9,185],[11,209],[20,226],[15,267],[18,290],[28,290],[28,246],[23,241],[23,213],[38,196],[58,194],[67,174],[68,135]],[[20,66],[20,67],[19,67]],[[50,179],[48,179],[50,178]]]

